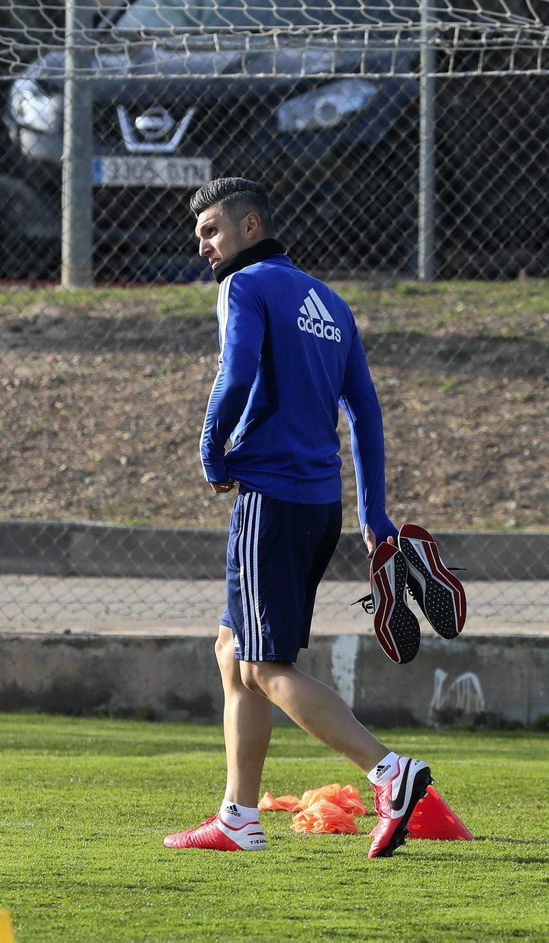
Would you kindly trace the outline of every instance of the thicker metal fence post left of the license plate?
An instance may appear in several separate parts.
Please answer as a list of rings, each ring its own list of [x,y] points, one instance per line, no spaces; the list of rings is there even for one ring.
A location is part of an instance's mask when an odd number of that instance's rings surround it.
[[[67,0],[61,184],[61,287],[91,285],[91,0]]]

